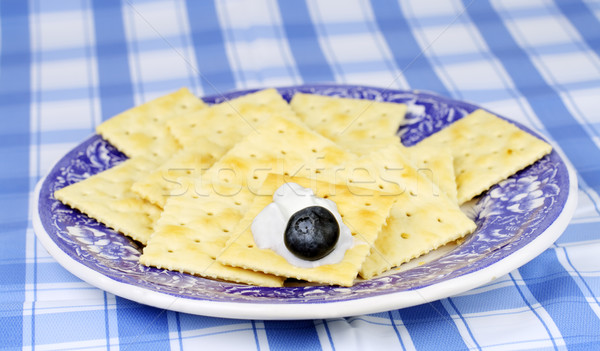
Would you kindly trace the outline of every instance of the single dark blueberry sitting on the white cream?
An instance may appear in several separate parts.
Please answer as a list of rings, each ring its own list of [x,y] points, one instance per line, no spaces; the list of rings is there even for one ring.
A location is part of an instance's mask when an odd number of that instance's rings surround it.
[[[315,261],[329,255],[339,237],[340,226],[333,213],[325,207],[310,206],[290,217],[283,241],[296,257]]]

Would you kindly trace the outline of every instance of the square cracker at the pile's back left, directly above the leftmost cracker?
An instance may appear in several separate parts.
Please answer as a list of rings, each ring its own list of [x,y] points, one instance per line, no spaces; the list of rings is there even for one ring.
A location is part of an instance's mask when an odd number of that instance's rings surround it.
[[[187,88],[182,88],[112,117],[100,124],[96,132],[129,157],[166,160],[179,148],[166,128],[167,120],[205,106]]]

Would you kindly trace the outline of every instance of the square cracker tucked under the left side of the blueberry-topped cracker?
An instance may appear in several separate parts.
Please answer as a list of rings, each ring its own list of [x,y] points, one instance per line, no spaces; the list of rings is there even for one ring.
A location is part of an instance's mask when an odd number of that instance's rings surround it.
[[[214,259],[253,193],[226,184],[195,184],[191,179],[181,179],[181,185],[186,191],[167,201],[140,256],[141,264],[237,283],[283,285],[281,277],[223,266]]]

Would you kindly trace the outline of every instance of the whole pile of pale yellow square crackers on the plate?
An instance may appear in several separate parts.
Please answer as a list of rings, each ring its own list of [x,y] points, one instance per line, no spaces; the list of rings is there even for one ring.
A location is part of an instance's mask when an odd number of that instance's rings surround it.
[[[405,113],[301,93],[288,103],[275,89],[207,106],[181,89],[100,125],[130,158],[55,197],[143,244],[144,265],[269,287],[351,286],[472,233],[460,205],[551,150],[482,110],[405,148]],[[255,245],[254,217],[287,182],[336,203],[354,238],[342,261],[300,268]]]

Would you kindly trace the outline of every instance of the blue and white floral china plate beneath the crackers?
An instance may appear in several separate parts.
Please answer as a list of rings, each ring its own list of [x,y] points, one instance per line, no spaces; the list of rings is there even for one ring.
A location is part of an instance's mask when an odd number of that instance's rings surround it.
[[[218,103],[252,91],[204,100]],[[407,146],[479,108],[427,92],[365,86],[302,85],[278,91],[287,100],[303,92],[406,103],[409,112],[398,134]],[[158,308],[214,317],[345,317],[449,297],[488,283],[543,252],[564,231],[577,202],[574,172],[553,151],[473,201],[468,212],[477,230],[461,244],[420,259],[424,264],[407,265],[352,287],[264,288],[142,266],[137,262],[141,247],[135,242],[53,198],[55,190],[125,159],[93,135],[59,160],[35,190],[34,230],[39,240],[67,270],[100,289]]]

